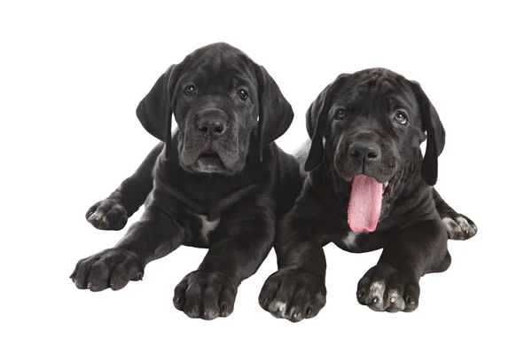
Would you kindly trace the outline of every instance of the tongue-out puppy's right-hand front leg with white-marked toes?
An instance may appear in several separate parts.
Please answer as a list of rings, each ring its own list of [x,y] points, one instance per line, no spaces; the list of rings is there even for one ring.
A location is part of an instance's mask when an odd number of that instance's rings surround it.
[[[419,304],[419,279],[450,265],[447,233],[438,219],[390,236],[379,263],[358,282],[356,297],[373,311],[411,312]]]

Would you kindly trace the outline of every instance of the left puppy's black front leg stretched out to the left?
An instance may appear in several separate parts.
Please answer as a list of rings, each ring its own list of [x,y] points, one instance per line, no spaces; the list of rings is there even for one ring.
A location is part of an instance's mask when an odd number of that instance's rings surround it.
[[[142,280],[145,265],[166,256],[184,241],[200,233],[196,217],[174,219],[163,209],[150,205],[140,220],[116,244],[80,260],[70,278],[77,288],[101,291],[124,288],[130,280]]]

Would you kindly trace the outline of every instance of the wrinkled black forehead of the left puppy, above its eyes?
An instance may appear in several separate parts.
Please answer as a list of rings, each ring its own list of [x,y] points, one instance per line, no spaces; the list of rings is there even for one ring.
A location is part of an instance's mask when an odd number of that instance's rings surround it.
[[[193,55],[181,75],[180,83],[193,83],[200,88],[239,85],[255,87],[256,78],[251,59],[239,51],[212,51]]]

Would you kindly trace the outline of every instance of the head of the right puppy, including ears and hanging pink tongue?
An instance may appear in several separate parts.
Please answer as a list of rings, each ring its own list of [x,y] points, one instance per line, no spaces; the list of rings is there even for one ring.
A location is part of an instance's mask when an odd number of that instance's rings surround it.
[[[402,75],[383,68],[340,75],[309,107],[307,128],[312,145],[305,170],[331,159],[333,171],[352,182],[351,200],[379,200],[366,214],[372,220],[363,221],[356,232],[375,228],[380,203],[394,191],[403,167],[419,156],[426,138],[421,175],[428,185],[436,182],[445,131],[419,84]],[[361,194],[353,198],[354,193]],[[349,209],[363,208],[349,202]]]

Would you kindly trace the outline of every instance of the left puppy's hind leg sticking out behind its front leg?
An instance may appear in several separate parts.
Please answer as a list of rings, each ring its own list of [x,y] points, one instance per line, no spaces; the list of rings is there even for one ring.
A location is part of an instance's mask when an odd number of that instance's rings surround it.
[[[152,171],[163,147],[163,143],[155,146],[133,175],[122,181],[106,200],[90,207],[85,218],[91,225],[98,229],[119,231],[128,223],[128,217],[145,203],[152,191]]]

